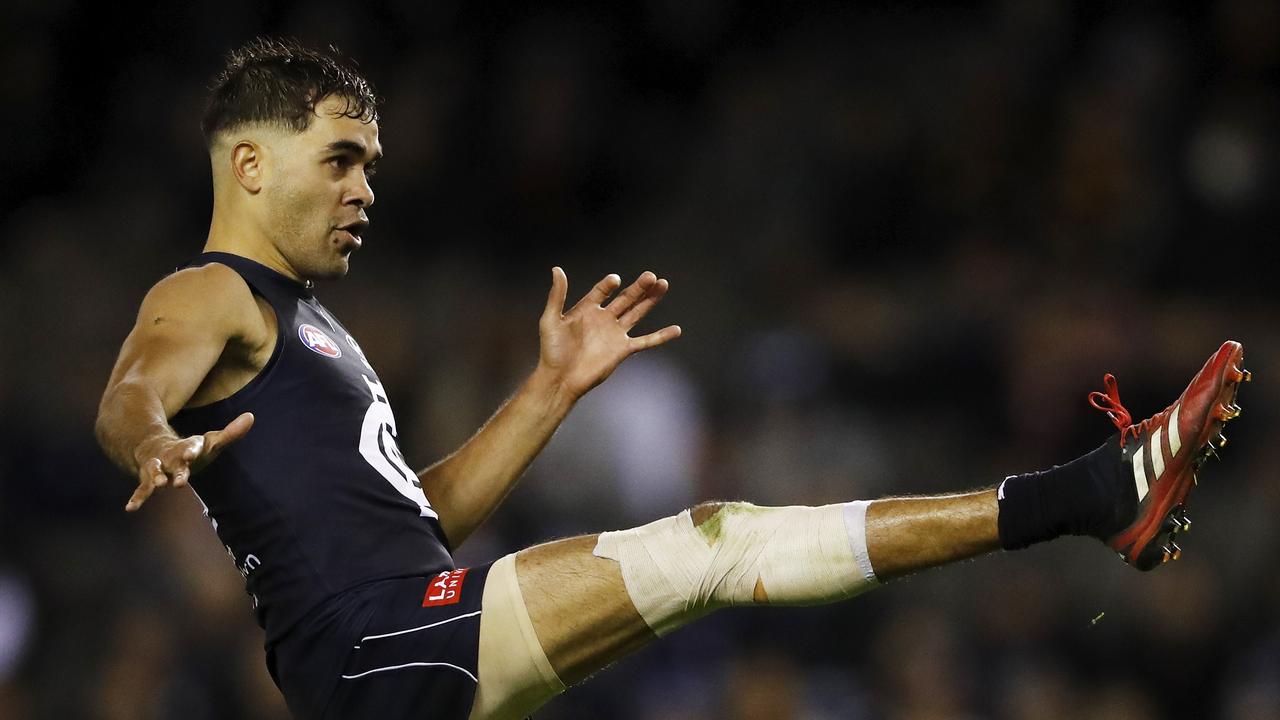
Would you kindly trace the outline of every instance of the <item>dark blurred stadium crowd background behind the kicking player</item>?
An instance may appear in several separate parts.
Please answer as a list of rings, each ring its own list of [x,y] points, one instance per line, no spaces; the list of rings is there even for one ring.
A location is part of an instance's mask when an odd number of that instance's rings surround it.
[[[582,402],[465,564],[704,498],[991,484],[1101,442],[1105,372],[1144,416],[1247,346],[1175,566],[1073,538],[723,612],[539,719],[1280,717],[1280,5],[750,5],[6,1],[0,717],[284,717],[195,500],[125,516],[92,437],[205,237],[204,88],[262,32],[387,99],[372,229],[320,295],[415,464],[531,368],[553,264],[672,279],[649,324],[685,337]]]

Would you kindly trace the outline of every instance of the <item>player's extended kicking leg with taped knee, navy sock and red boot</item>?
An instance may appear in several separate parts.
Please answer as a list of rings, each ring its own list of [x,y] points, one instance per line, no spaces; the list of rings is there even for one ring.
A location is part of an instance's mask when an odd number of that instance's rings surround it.
[[[1178,402],[1137,424],[1108,375],[1107,393],[1091,401],[1120,432],[1073,462],[1006,478],[998,491],[824,507],[707,503],[508,556],[485,588],[472,717],[522,717],[563,689],[561,680],[577,682],[716,607],[835,602],[878,580],[1061,534],[1097,537],[1139,569],[1176,559],[1172,538],[1158,541],[1185,528],[1196,473],[1240,414],[1235,393],[1251,378],[1242,361],[1239,343],[1224,343]],[[509,665],[500,660],[517,637],[534,669],[492,670]]]

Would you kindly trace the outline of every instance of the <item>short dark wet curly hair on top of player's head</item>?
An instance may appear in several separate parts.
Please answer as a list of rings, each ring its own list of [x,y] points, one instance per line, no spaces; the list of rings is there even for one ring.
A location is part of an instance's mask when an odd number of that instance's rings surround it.
[[[330,95],[346,100],[342,115],[378,119],[378,95],[337,47],[316,51],[296,40],[256,37],[227,54],[200,129],[210,147],[223,131],[250,123],[303,132],[316,105]]]

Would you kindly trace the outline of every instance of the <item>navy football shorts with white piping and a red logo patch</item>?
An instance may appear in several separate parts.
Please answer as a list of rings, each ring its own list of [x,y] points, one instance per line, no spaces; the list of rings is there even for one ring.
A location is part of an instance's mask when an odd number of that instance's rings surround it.
[[[379,580],[308,616],[268,652],[300,720],[466,720],[489,565]]]

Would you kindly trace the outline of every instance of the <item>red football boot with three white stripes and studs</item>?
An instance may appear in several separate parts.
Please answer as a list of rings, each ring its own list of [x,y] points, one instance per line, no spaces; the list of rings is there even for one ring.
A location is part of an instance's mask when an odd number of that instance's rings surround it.
[[[1204,460],[1226,445],[1222,425],[1240,415],[1235,393],[1252,379],[1243,361],[1244,346],[1224,342],[1178,402],[1138,424],[1120,404],[1115,375],[1103,378],[1106,393],[1089,393],[1089,404],[1120,428],[1120,473],[1138,491],[1133,521],[1105,539],[1134,568],[1151,570],[1181,556],[1174,541],[1190,529],[1187,495]]]

